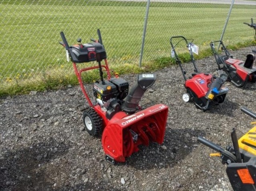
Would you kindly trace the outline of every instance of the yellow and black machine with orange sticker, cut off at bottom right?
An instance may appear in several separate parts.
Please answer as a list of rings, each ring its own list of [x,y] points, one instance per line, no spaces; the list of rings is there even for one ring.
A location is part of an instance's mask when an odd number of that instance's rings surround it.
[[[241,110],[256,119],[256,114],[247,108]],[[227,164],[226,173],[234,191],[256,191],[256,126],[239,140],[234,128],[231,138],[233,146],[227,146],[226,149],[201,136],[197,140],[218,152],[211,153],[210,156],[219,156],[222,164]]]

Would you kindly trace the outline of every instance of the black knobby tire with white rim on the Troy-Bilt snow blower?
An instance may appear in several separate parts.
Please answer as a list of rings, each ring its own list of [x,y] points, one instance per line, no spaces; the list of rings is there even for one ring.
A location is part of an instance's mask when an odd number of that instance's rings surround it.
[[[102,119],[93,108],[87,108],[83,112],[83,123],[87,132],[93,136],[99,136],[102,131]]]

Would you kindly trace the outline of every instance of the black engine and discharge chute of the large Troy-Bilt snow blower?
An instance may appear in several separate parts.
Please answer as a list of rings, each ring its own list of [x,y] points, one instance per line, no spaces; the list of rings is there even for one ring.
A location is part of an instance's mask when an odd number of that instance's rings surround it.
[[[155,74],[140,74],[137,76],[137,82],[128,92],[129,83],[126,80],[110,78],[109,81],[94,83],[93,92],[96,102],[106,112],[106,117],[111,119],[121,110],[128,114],[135,113],[141,97],[155,83],[155,79]]]

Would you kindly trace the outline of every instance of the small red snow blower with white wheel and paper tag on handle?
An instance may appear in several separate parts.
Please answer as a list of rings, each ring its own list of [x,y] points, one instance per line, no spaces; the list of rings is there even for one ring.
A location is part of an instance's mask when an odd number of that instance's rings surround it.
[[[173,41],[175,38],[179,38],[180,40],[174,45]],[[188,40],[192,40],[193,42],[193,39],[187,39],[183,36],[171,37],[171,57],[175,57],[176,63],[179,64],[185,80],[184,86],[187,89],[187,93],[183,94],[183,101],[193,101],[196,108],[205,111],[213,105],[224,102],[229,89],[222,87],[224,80],[222,80],[221,78],[208,73],[200,73],[197,70],[193,51],[196,52],[195,49],[197,49],[198,51],[198,48],[196,48],[196,46],[192,44],[192,42],[188,42]],[[175,46],[178,45],[181,41],[185,41],[186,46],[189,49],[191,62],[194,66],[194,73],[192,73],[191,76],[187,74],[182,64],[182,61],[180,60],[175,51]]]

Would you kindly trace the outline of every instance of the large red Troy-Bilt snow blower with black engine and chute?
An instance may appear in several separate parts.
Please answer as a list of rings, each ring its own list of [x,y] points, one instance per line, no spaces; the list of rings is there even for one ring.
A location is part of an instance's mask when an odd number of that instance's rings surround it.
[[[83,123],[89,134],[99,136],[102,132],[102,146],[108,162],[125,162],[125,158],[139,151],[139,145],[148,146],[150,141],[162,144],[165,134],[168,107],[157,104],[141,109],[139,102],[144,92],[155,83],[155,74],[137,76],[137,83],[130,91],[129,83],[118,76],[111,77],[107,54],[102,44],[101,32],[97,30],[99,40],[93,43],[69,46],[64,33],[61,32],[67,59],[71,59],[81,90],[89,107],[83,112]],[[105,64],[101,64],[104,60]],[[96,61],[97,65],[78,69],[80,63]],[[93,63],[92,63],[93,64]],[[81,66],[80,66],[81,67]],[[107,80],[103,79],[103,70]],[[98,69],[100,81],[93,86],[94,101],[90,100],[88,90],[83,85],[81,74]],[[126,98],[126,100],[125,100]]]

